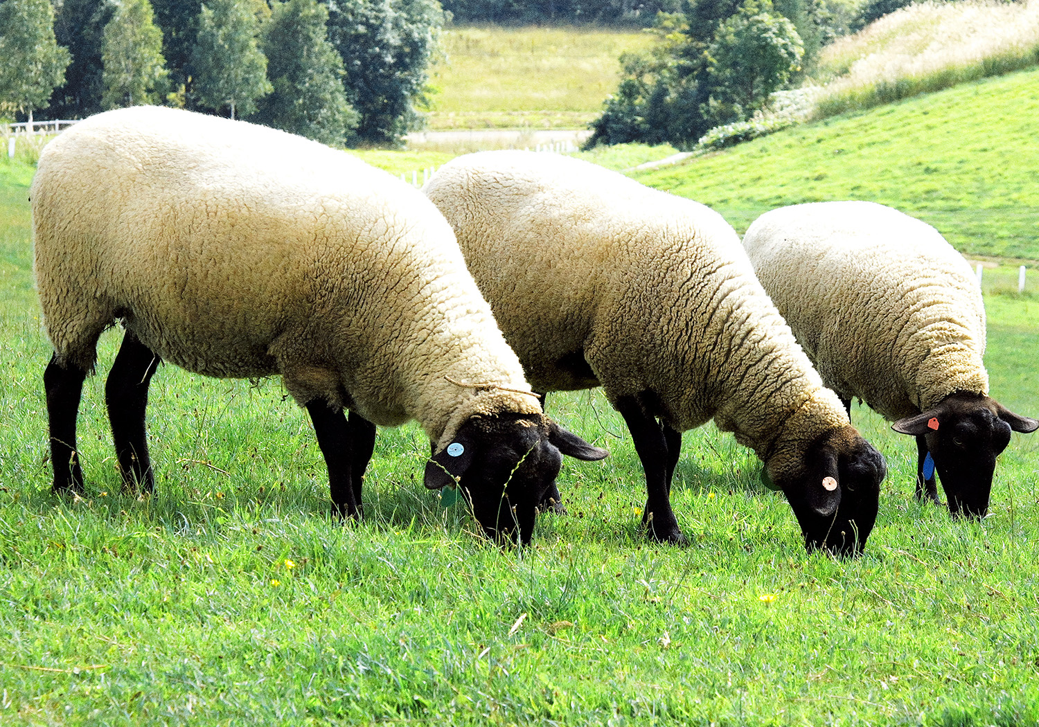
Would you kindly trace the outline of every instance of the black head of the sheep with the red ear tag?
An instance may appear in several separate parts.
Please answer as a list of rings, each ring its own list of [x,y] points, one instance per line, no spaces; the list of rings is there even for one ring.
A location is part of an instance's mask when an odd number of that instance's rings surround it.
[[[983,394],[963,392],[891,425],[901,434],[924,437],[954,517],[985,516],[995,458],[1010,443],[1011,430],[1037,428],[1039,421],[1015,414]]]

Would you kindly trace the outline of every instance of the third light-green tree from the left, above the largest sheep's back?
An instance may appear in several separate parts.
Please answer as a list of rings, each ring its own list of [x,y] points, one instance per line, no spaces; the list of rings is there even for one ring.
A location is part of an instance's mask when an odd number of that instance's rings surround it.
[[[271,90],[256,8],[243,0],[212,0],[202,6],[197,27],[191,65],[198,101],[215,110],[228,107],[232,118],[251,114]]]

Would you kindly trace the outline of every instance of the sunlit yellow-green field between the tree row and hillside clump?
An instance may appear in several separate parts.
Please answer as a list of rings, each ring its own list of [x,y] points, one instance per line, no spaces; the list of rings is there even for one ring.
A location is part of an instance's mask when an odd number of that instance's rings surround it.
[[[597,28],[451,28],[433,64],[431,129],[579,129],[616,90],[620,54],[646,33]]]

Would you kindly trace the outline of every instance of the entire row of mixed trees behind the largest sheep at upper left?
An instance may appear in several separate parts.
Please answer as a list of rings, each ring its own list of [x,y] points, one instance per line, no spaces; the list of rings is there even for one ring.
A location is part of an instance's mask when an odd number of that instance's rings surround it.
[[[3,0],[0,99],[29,119],[165,104],[397,144],[443,23],[436,0]]]

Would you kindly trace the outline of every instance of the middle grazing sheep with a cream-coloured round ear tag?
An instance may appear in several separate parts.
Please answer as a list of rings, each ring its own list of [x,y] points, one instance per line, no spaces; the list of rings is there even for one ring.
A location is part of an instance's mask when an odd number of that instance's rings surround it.
[[[883,458],[822,385],[719,214],[525,152],[456,158],[425,192],[534,389],[601,384],[624,419],[649,537],[686,542],[669,501],[682,432],[713,419],[765,462],[809,550],[862,550]]]

